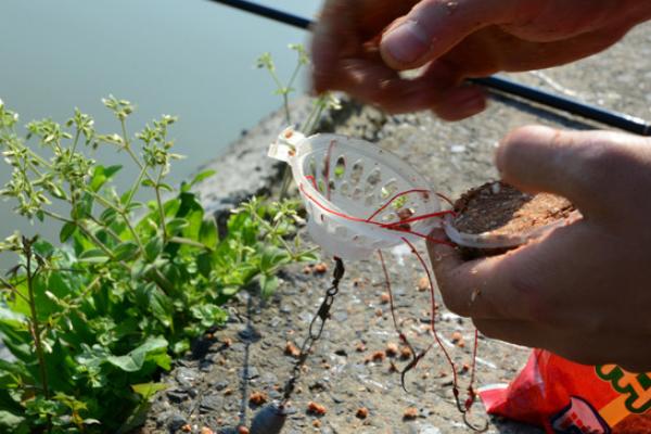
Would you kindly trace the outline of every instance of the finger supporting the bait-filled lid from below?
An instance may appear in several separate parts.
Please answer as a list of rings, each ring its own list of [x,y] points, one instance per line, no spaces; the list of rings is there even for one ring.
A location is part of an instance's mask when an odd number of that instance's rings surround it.
[[[558,291],[575,282],[573,246],[591,232],[580,221],[501,256],[463,261],[454,247],[429,244],[438,289],[451,311],[474,319],[566,323]],[[434,239],[441,234],[433,233]]]

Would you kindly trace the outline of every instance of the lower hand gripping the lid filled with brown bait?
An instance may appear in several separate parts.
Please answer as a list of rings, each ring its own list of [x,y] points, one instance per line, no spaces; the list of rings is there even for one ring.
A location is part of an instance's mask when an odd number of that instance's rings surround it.
[[[489,337],[651,371],[651,139],[525,127],[496,163],[503,181],[565,196],[583,218],[472,261],[430,244],[446,306]]]

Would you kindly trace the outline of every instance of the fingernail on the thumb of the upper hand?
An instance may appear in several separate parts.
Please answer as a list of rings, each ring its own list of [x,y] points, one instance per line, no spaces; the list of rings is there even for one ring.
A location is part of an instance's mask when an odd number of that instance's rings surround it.
[[[430,49],[430,38],[414,21],[407,21],[382,38],[382,47],[399,63],[416,62]]]

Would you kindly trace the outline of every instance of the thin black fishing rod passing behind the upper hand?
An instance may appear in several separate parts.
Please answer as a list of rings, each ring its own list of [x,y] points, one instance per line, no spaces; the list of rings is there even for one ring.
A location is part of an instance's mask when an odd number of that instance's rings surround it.
[[[242,11],[246,11],[266,18],[309,30],[314,22],[303,16],[279,11],[247,0],[210,0]],[[561,110],[586,119],[620,128],[640,136],[651,136],[651,124],[639,117],[614,112],[596,105],[587,104],[571,98],[558,95],[532,86],[519,84],[499,76],[470,78],[469,81],[484,86],[488,89],[519,97],[541,105]]]

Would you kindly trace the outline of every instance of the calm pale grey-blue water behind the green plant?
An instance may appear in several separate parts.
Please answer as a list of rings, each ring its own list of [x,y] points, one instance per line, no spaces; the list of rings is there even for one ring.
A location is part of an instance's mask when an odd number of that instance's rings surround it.
[[[320,5],[260,3],[304,16]],[[271,79],[254,67],[255,60],[269,51],[279,75],[288,76],[295,65],[288,43],[308,37],[206,0],[2,0],[0,28],[0,99],[21,114],[22,124],[65,122],[78,106],[95,117],[98,130],[117,131],[101,103],[110,93],[137,104],[133,131],[161,114],[178,115],[171,136],[176,152],[188,158],[175,165],[177,181],[279,106]],[[113,152],[98,159],[126,162]],[[0,180],[9,173],[3,166]],[[0,237],[15,229],[55,237],[52,225],[33,227],[11,208],[0,202]]]

